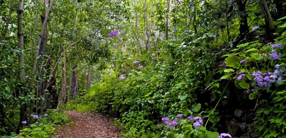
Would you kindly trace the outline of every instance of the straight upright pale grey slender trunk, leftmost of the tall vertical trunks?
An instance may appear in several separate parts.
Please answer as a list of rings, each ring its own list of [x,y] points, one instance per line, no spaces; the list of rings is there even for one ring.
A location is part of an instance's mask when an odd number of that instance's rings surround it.
[[[24,11],[24,1],[23,0],[19,0],[18,3],[18,10],[17,10],[17,16],[18,16],[18,49],[20,49],[21,51],[24,50],[24,37],[23,37],[23,11]],[[26,74],[25,74],[25,69],[24,69],[24,54],[21,53],[18,56],[18,62],[20,64],[20,69],[19,69],[19,76],[20,76],[20,81],[21,81],[21,85],[24,86],[24,83],[26,82]],[[20,93],[21,96],[25,97],[26,96],[26,90],[23,89],[22,87],[20,87]],[[27,120],[27,104],[26,103],[22,103],[20,105],[20,126],[22,125],[22,121]]]

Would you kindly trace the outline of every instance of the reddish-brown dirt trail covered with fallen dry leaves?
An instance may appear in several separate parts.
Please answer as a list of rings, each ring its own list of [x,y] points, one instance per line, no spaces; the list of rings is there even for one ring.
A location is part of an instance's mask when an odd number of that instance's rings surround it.
[[[122,138],[120,129],[105,115],[66,111],[74,124],[63,124],[56,138]]]

